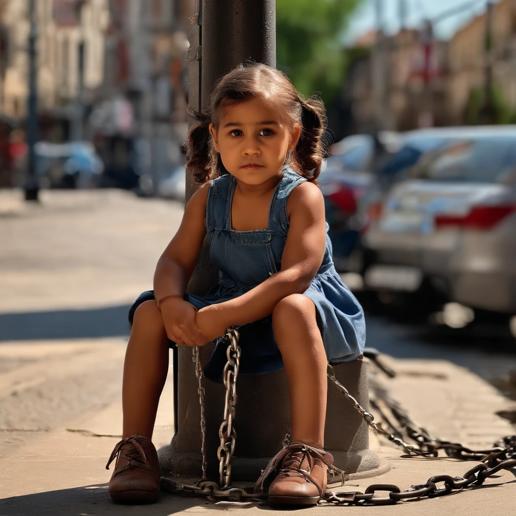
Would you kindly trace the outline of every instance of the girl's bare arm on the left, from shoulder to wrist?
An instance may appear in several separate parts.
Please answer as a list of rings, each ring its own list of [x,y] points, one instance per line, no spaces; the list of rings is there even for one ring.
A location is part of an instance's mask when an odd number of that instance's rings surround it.
[[[178,232],[158,260],[154,272],[154,296],[158,306],[172,296],[183,299],[206,235],[208,188],[208,184],[203,185],[188,201]]]

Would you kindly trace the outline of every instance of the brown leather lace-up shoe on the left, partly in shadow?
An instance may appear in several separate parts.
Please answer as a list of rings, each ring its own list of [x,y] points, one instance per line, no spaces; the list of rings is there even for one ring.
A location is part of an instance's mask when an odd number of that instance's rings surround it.
[[[138,434],[122,439],[112,451],[106,470],[115,457],[115,471],[109,480],[111,498],[117,503],[155,502],[161,473],[152,441]]]

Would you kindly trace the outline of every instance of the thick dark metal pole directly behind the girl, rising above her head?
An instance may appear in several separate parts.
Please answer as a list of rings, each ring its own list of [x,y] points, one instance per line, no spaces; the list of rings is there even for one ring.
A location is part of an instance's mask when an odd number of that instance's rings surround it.
[[[190,18],[188,68],[188,126],[197,120],[191,109],[206,110],[217,80],[240,63],[262,62],[276,67],[276,0],[196,0],[196,12]],[[186,171],[186,200],[199,187]],[[216,269],[208,260],[208,245],[202,248],[188,292],[202,293],[215,283]],[[162,469],[184,472],[191,459],[181,451],[191,447],[191,436],[198,434],[199,422],[188,410],[188,398],[197,392],[191,350],[173,352],[174,430],[175,438],[168,450],[160,450]],[[210,346],[200,349],[205,358]],[[181,362],[181,364],[179,364]],[[179,428],[178,428],[179,427]],[[184,440],[184,436],[188,436]],[[174,444],[175,442],[175,444]]]

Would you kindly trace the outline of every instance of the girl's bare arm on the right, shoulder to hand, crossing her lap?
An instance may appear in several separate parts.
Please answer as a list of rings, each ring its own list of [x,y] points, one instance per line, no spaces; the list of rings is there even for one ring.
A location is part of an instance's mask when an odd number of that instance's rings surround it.
[[[287,201],[290,228],[281,270],[246,294],[199,311],[197,325],[207,336],[232,325],[245,325],[270,315],[291,294],[302,294],[312,283],[326,247],[324,199],[313,183],[297,186]],[[214,338],[214,337],[212,337]]]

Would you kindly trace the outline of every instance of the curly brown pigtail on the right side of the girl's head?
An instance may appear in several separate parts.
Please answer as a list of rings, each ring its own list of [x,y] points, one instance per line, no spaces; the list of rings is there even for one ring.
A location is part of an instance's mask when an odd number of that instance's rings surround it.
[[[326,130],[326,112],[317,98],[299,99],[301,104],[301,134],[294,150],[293,161],[297,172],[311,182],[316,182],[321,172],[322,158],[326,156],[322,140]]]

